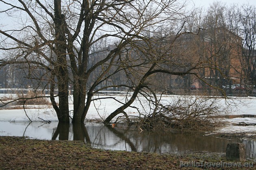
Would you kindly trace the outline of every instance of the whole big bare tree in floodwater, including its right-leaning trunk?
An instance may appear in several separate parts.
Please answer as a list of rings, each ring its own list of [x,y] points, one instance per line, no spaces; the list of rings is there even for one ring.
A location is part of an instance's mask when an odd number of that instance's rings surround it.
[[[103,99],[95,95],[100,90],[128,88],[132,96],[105,119],[108,123],[126,115],[139,94],[156,97],[152,81],[158,74],[201,79],[196,70],[206,67],[200,58],[188,62],[178,55],[175,40],[191,33],[182,31],[187,16],[178,0],[0,2],[8,6],[0,12],[17,22],[0,30],[6,56],[0,68],[14,65],[26,70],[24,78],[35,90],[49,88],[60,122],[69,122],[69,85],[74,123],[84,122],[91,103]]]

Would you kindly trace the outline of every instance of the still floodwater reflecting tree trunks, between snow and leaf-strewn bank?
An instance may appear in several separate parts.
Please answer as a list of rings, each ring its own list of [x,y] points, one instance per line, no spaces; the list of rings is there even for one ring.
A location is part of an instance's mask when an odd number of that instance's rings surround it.
[[[229,140],[200,132],[139,132],[102,123],[67,124],[0,122],[0,136],[26,136],[42,140],[82,140],[94,148],[154,153],[225,153],[230,142],[243,142],[247,157],[256,157],[256,141]]]

